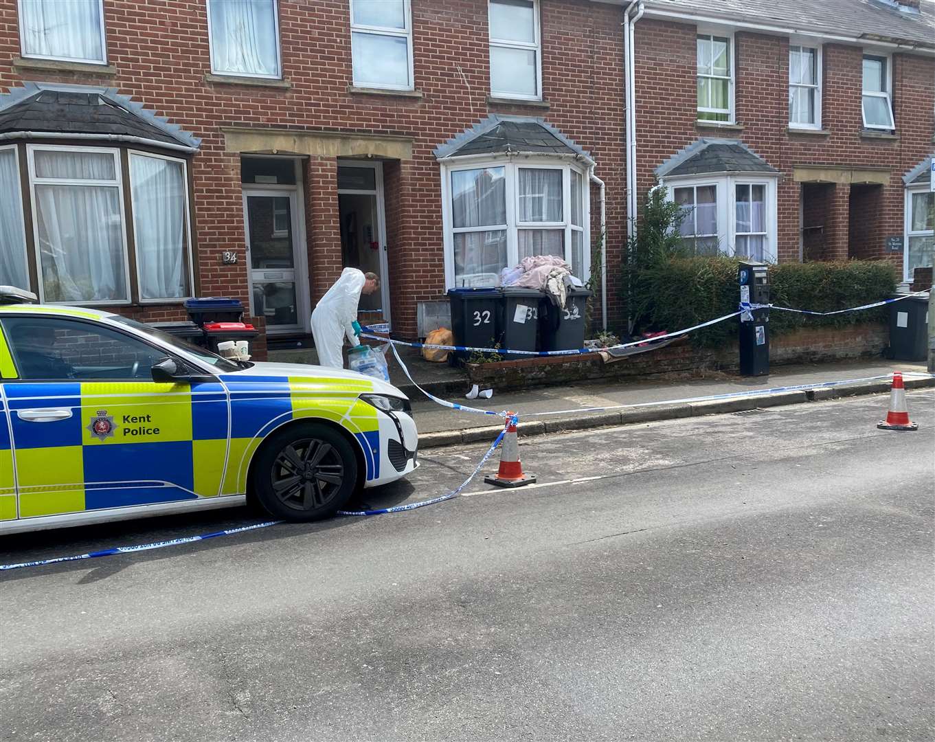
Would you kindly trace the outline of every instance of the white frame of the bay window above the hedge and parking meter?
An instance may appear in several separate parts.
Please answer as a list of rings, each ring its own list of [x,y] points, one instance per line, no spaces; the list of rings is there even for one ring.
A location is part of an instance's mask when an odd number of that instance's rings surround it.
[[[718,251],[725,255],[736,254],[737,243],[737,186],[739,185],[765,185],[766,191],[766,235],[767,246],[763,250],[768,263],[776,263],[778,255],[777,243],[777,178],[770,178],[751,173],[744,175],[709,176],[681,176],[663,178],[663,185],[669,193],[669,201],[675,201],[676,188],[689,188],[691,186],[715,186],[717,198],[717,238]],[[747,233],[741,233],[747,234]],[[762,233],[752,233],[762,234]],[[696,235],[697,236],[697,235]],[[704,235],[702,235],[704,236]]]

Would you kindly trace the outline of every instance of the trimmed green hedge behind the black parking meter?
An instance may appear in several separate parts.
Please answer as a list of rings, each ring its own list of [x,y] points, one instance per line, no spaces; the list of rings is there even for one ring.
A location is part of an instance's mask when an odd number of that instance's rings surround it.
[[[738,261],[728,257],[670,258],[629,274],[630,316],[636,332],[679,330],[737,310]],[[896,271],[885,261],[784,263],[770,265],[771,302],[781,307],[833,311],[884,299],[896,291]],[[886,318],[886,307],[834,317],[770,313],[770,332],[804,326],[848,325]],[[737,321],[692,334],[699,346],[716,346],[737,335]]]

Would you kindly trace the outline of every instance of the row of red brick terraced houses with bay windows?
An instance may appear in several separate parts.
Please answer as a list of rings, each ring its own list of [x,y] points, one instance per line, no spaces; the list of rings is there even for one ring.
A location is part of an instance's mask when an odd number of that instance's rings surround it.
[[[557,252],[606,261],[613,322],[657,177],[699,250],[930,264],[935,13],[901,6],[0,0],[0,283],[146,321],[234,296],[286,338],[355,265],[411,336]]]

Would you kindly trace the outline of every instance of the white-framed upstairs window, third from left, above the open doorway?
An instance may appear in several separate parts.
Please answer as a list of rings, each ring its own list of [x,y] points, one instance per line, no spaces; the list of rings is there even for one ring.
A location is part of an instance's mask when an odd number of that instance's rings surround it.
[[[353,84],[412,90],[410,0],[351,0]]]

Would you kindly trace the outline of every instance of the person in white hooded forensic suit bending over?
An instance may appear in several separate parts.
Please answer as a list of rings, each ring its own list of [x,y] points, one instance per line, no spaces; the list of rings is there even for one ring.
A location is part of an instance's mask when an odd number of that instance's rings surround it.
[[[362,293],[374,293],[380,288],[380,277],[375,273],[362,273],[356,268],[345,268],[335,284],[311,312],[311,334],[315,338],[318,364],[343,368],[341,348],[344,336],[352,346],[360,345],[360,324],[357,322],[357,304]]]

